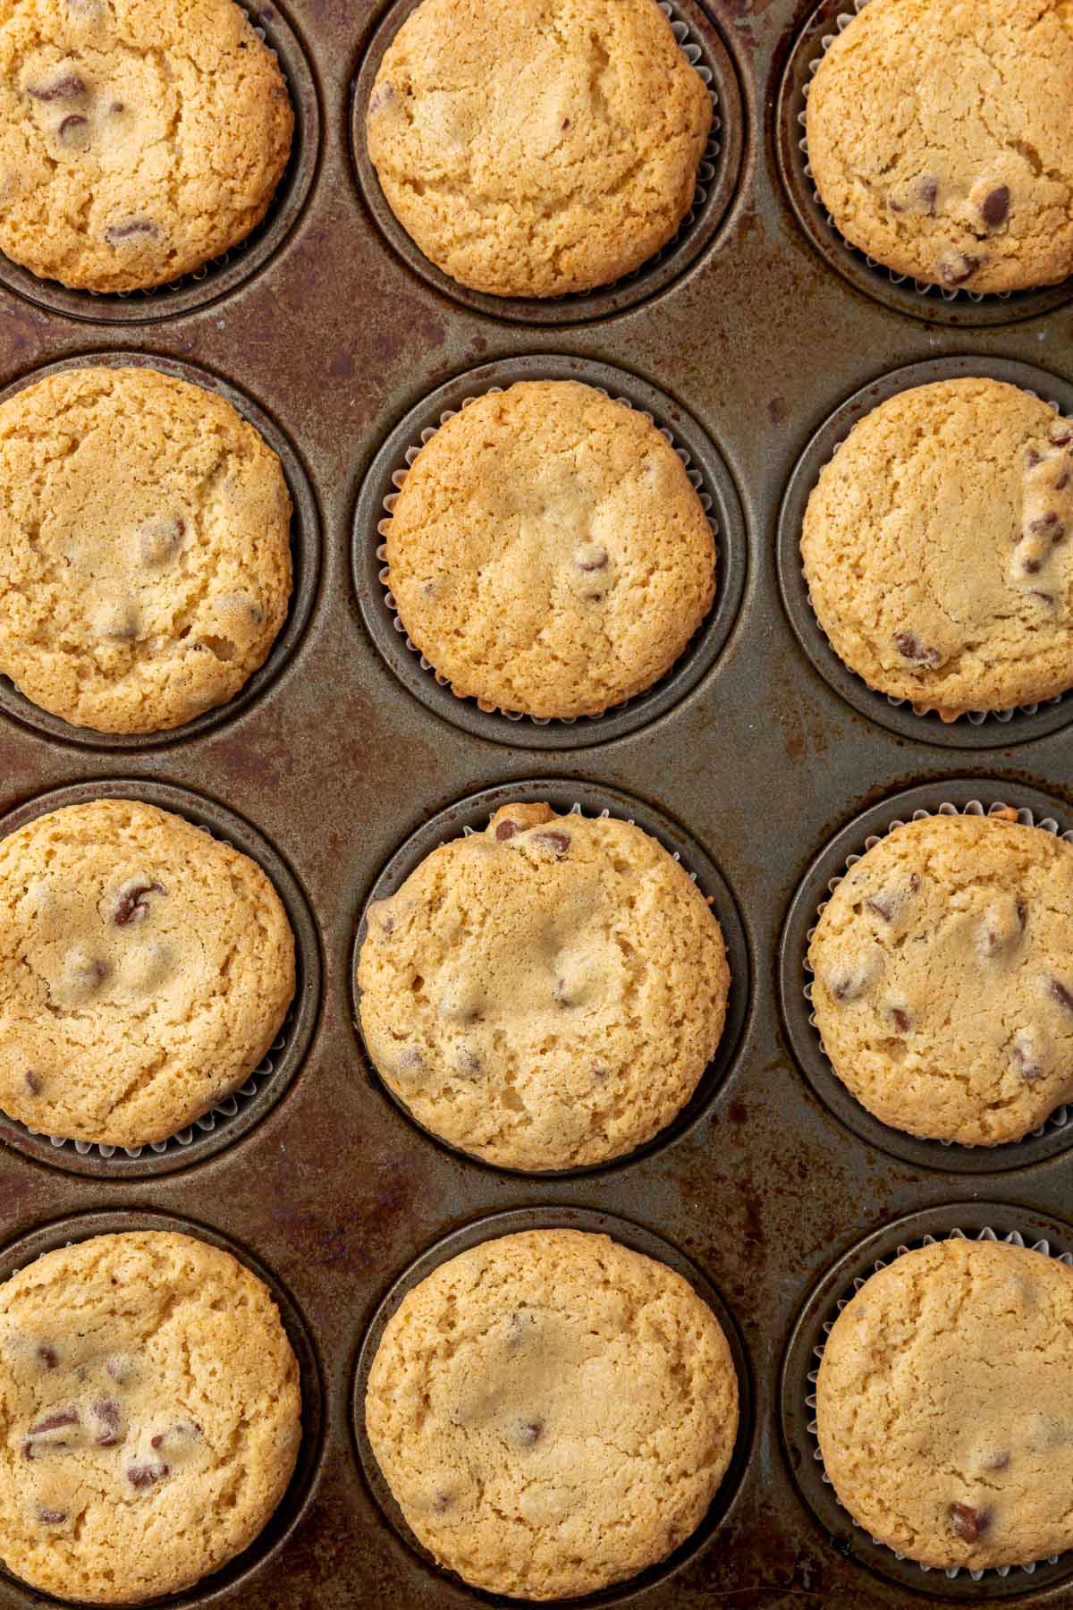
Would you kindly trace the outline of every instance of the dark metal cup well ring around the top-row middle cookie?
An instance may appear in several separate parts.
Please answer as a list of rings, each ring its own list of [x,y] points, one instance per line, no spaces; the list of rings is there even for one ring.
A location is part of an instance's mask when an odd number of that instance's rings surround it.
[[[351,105],[351,155],[362,200],[381,235],[402,262],[441,295],[492,319],[512,324],[569,325],[624,312],[672,285],[711,245],[737,190],[745,148],[745,109],[737,74],[719,31],[697,0],[663,0],[685,60],[697,69],[713,101],[713,124],[705,147],[692,206],[677,233],[645,264],[613,285],[563,296],[494,296],[473,290],[436,267],[393,213],[368,155],[365,119],[384,53],[420,0],[389,6],[365,50]]]

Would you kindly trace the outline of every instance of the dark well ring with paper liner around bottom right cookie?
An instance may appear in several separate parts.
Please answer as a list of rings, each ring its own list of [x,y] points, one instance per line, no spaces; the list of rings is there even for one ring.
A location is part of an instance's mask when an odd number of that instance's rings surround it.
[[[835,1547],[841,1554],[849,1555],[877,1576],[896,1583],[911,1592],[935,1596],[936,1599],[943,1599],[943,1602],[978,1604],[981,1600],[1007,1600],[1026,1592],[1033,1596],[1044,1594],[1073,1578],[1073,1552],[1065,1550],[1059,1555],[1046,1555],[1039,1560],[1030,1560],[1025,1565],[986,1568],[972,1565],[920,1565],[885,1542],[877,1542],[864,1526],[857,1525],[840,1502],[824,1468],[817,1435],[816,1394],[819,1367],[835,1322],[872,1275],[896,1265],[907,1253],[917,1253],[922,1248],[941,1248],[951,1241],[980,1243],[985,1248],[999,1249],[1026,1249],[1054,1259],[1065,1265],[1065,1269],[1073,1265],[1073,1232],[1068,1225],[1033,1209],[1022,1206],[1010,1208],[1001,1203],[973,1201],[927,1208],[867,1235],[856,1246],[845,1251],[838,1262],[824,1275],[809,1294],[790,1335],[780,1380],[783,1454],[800,1496],[812,1510],[822,1531],[833,1539]],[[1013,1428],[1017,1436],[1031,1435],[1030,1420],[1031,1415],[1026,1410],[1023,1425]],[[964,1430],[968,1435],[973,1426],[965,1426]],[[1007,1463],[1002,1463],[1004,1455]],[[994,1451],[981,1449],[981,1463],[988,1459],[993,1460],[993,1465],[989,1472],[985,1472],[985,1480],[991,1483],[1002,1483],[1005,1480],[1002,1472],[1013,1470],[1018,1462],[1017,1449],[1007,1449],[1005,1446]],[[959,1475],[964,1475],[964,1472],[959,1472]],[[915,1480],[915,1484],[930,1480],[923,1470],[911,1468],[904,1468],[901,1478],[904,1483],[914,1483]],[[954,1486],[957,1486],[957,1478],[948,1476],[948,1480],[952,1480]],[[956,1546],[968,1544],[973,1531],[976,1533],[976,1539],[986,1541],[988,1538],[993,1517],[988,1515],[986,1507],[980,1510],[972,1502],[965,1502],[972,1496],[975,1494],[960,1488],[959,1491],[951,1488],[949,1494],[943,1489],[943,1502],[938,1505],[936,1513],[939,1515],[941,1526],[949,1528]],[[962,1557],[967,1552],[967,1549],[962,1549]]]

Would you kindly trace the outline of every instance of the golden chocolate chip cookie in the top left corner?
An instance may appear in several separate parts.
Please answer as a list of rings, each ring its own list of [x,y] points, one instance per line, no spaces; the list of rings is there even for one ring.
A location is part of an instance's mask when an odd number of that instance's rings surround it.
[[[0,8],[0,250],[93,291],[164,285],[245,240],[294,113],[233,0]]]

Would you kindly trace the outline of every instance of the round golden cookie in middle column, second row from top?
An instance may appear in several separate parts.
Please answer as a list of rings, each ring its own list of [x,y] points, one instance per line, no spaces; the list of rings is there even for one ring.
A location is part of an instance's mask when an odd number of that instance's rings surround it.
[[[483,708],[598,715],[711,609],[716,544],[674,448],[573,380],[521,382],[421,448],[386,526],[410,639]]]

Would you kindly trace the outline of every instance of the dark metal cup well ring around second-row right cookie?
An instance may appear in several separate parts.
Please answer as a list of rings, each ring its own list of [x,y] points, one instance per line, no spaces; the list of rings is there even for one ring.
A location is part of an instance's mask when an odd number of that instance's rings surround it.
[[[1030,742],[1067,726],[1073,718],[1073,699],[1070,694],[1062,694],[1041,704],[1023,705],[1015,710],[967,712],[952,720],[943,720],[936,708],[914,707],[904,699],[896,699],[870,687],[835,652],[827,633],[820,626],[809,597],[801,555],[801,536],[809,501],[825,467],[837,457],[854,427],[902,393],[939,382],[965,380],[999,382],[1017,386],[1020,391],[1054,407],[1063,417],[1062,422],[1073,414],[1073,386],[1047,370],[1010,359],[983,356],[938,357],[878,377],[853,393],[853,396],[835,409],[814,433],[795,465],[779,510],[779,586],[783,609],[806,657],[824,681],[853,705],[854,710],[859,710],[878,726],[885,726],[911,741],[923,741],[944,749],[989,749],[997,745],[1005,749],[1010,744]],[[1013,546],[1012,543],[1010,547],[1013,549]],[[1059,549],[1059,552],[1063,551]],[[917,652],[912,642],[906,642],[906,649]]]

